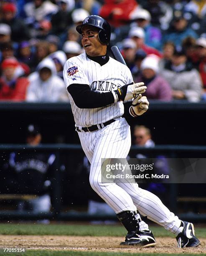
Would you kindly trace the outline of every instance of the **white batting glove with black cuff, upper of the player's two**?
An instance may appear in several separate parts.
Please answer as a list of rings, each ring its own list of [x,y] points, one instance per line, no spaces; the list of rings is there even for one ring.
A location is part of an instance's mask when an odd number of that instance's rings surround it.
[[[137,97],[140,93],[144,93],[146,89],[147,87],[143,82],[126,84],[113,92],[114,99],[116,97],[114,102],[131,100],[132,98]]]

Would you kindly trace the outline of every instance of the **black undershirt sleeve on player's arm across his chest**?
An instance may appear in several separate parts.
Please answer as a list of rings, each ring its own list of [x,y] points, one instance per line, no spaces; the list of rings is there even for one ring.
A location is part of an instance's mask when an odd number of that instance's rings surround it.
[[[101,108],[114,103],[112,92],[94,92],[88,84],[71,84],[67,90],[78,108]]]

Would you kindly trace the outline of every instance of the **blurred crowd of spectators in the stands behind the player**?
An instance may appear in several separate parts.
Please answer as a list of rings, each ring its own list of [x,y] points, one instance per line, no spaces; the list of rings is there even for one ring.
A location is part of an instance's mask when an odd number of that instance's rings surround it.
[[[148,99],[206,100],[205,0],[0,0],[0,100],[68,102],[62,71],[90,14],[110,23]]]

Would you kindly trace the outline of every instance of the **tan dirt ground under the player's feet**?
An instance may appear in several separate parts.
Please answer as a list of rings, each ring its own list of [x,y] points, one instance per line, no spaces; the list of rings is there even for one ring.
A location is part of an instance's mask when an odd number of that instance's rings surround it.
[[[130,253],[206,253],[206,239],[201,239],[197,248],[177,248],[174,238],[157,238],[154,248],[137,248],[120,246],[121,237],[92,236],[10,236],[0,235],[0,248],[26,248],[74,251],[110,251]]]

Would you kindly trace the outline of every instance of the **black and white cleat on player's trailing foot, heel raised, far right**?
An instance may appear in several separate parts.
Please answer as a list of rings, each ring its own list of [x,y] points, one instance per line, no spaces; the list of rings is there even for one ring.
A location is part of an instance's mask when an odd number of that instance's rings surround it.
[[[200,241],[195,236],[195,230],[193,223],[189,223],[181,220],[181,225],[183,230],[176,237],[179,248],[185,247],[197,247],[200,244]]]

